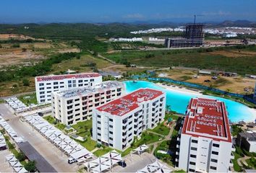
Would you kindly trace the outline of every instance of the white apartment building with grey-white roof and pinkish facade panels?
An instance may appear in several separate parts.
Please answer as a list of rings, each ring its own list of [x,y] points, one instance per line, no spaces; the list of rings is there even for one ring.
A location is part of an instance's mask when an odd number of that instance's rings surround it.
[[[56,120],[65,125],[73,125],[88,120],[93,108],[121,97],[124,84],[119,81],[103,81],[95,86],[64,89],[51,94],[51,110]]]

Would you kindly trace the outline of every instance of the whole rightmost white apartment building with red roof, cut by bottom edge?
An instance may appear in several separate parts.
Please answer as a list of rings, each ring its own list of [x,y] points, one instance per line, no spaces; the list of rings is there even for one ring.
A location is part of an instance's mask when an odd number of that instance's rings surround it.
[[[226,106],[216,99],[191,99],[177,144],[177,166],[187,172],[230,172],[234,151]]]

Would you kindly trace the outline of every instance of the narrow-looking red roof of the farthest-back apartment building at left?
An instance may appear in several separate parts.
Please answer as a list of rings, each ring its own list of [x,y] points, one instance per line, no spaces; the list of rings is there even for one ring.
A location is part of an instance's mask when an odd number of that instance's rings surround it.
[[[35,77],[37,81],[57,81],[57,80],[63,80],[63,79],[80,79],[80,78],[92,78],[92,77],[98,77],[101,76],[101,74],[97,73],[86,73],[86,74],[64,74],[64,75],[54,75],[54,76],[37,76]]]

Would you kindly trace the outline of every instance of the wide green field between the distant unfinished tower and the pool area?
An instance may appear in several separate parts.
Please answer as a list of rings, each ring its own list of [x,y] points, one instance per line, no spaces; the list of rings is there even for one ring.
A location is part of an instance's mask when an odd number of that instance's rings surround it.
[[[224,53],[219,53],[223,49]],[[229,50],[234,50],[234,56],[228,56]],[[129,50],[117,53],[105,53],[104,56],[117,63],[135,63],[141,66],[170,67],[187,66],[207,68],[221,71],[234,71],[239,74],[256,73],[256,56],[243,56],[242,52],[254,52],[256,46],[244,48],[210,48],[190,50]],[[151,55],[151,56],[148,56]],[[209,63],[210,62],[210,63]]]

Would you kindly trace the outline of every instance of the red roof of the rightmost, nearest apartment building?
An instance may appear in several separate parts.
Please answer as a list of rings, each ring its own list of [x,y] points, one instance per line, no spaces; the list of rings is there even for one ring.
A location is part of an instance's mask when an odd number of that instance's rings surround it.
[[[190,99],[183,134],[231,142],[229,120],[224,102],[216,99]]]

